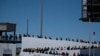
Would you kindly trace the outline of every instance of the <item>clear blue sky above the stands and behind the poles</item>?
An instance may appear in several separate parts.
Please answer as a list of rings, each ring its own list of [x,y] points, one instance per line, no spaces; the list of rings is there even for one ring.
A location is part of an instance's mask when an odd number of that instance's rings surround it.
[[[0,22],[16,23],[16,34],[40,35],[41,0],[0,0]],[[82,22],[81,0],[44,0],[43,36],[100,41],[100,23]],[[95,32],[95,36],[93,36]]]

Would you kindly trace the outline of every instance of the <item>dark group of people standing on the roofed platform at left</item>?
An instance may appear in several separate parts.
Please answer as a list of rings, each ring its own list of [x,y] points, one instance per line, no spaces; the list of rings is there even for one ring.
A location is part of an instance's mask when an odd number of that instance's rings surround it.
[[[0,36],[0,42],[1,43],[21,43],[22,35],[2,35]]]

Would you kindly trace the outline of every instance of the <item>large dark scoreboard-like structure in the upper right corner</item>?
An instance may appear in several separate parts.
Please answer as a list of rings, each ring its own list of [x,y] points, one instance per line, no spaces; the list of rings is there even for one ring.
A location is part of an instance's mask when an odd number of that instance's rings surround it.
[[[82,0],[83,22],[100,22],[100,0]]]

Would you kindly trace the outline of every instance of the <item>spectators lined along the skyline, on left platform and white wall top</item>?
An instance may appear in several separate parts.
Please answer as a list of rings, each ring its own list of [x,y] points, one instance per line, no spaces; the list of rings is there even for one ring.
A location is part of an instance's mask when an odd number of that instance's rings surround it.
[[[10,41],[21,41],[22,40],[22,37],[35,37],[34,35],[26,35],[26,34],[19,34],[19,35],[12,35],[12,34],[9,34],[9,35],[2,35],[2,36],[0,36],[0,40],[10,40]],[[36,36],[37,38],[45,38],[45,39],[50,39],[50,40],[52,40],[52,38],[51,37],[41,37],[41,36],[39,36],[39,35],[37,35]],[[56,38],[55,40],[63,40],[62,39],[62,37],[60,37],[60,38]],[[65,39],[66,41],[73,41],[73,42],[81,42],[81,43],[90,43],[90,41],[85,41],[85,40],[79,40],[79,39],[76,39],[76,40],[74,40],[74,39],[70,39],[70,38],[66,38]],[[91,43],[93,43],[93,44],[100,44],[100,41],[94,41],[94,42],[91,42]]]

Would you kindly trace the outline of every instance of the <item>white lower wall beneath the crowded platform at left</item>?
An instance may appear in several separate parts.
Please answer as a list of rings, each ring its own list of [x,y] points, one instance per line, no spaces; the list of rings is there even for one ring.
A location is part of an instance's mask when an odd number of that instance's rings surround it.
[[[0,56],[3,56],[3,54],[16,56],[16,44],[0,43]]]

